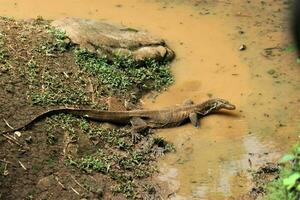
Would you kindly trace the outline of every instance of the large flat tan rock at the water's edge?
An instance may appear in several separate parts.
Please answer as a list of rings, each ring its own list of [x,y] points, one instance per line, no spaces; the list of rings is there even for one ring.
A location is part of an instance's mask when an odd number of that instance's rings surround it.
[[[51,25],[65,31],[72,42],[81,48],[108,58],[115,54],[131,55],[136,60],[152,58],[169,61],[174,58],[174,52],[163,39],[144,31],[71,17],[55,20]]]

